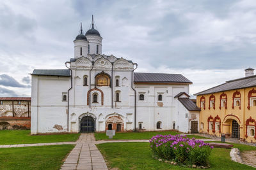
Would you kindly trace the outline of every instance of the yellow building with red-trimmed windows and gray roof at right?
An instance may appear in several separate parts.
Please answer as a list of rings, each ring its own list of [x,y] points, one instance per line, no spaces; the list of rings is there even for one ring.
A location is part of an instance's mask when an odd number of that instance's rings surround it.
[[[200,132],[256,142],[256,75],[253,70],[246,69],[244,78],[195,94],[196,105],[201,109]]]

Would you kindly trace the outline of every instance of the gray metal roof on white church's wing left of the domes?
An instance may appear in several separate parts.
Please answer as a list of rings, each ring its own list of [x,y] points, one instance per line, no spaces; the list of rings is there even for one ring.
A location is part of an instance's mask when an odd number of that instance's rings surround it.
[[[70,76],[70,70],[69,69],[34,69],[31,75]]]

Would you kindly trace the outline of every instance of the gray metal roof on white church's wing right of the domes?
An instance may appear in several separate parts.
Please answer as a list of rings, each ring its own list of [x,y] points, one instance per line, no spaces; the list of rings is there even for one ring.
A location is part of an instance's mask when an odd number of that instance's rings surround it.
[[[134,73],[134,82],[192,83],[182,74]]]

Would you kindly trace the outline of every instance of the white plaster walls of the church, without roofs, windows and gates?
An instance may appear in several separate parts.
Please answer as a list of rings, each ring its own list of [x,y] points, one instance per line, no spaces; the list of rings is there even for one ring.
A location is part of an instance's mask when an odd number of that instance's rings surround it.
[[[190,131],[190,112],[174,98],[180,92],[189,94],[189,83],[136,84],[133,81],[136,64],[113,55],[101,55],[102,38],[98,36],[96,41],[95,35],[86,37],[86,40],[74,41],[74,59],[66,63],[71,77],[32,74],[31,134],[79,132],[81,118],[86,116],[95,120],[97,132],[106,131],[106,120],[113,116],[122,118],[122,131],[134,131],[135,126],[145,131],[170,130],[173,123],[179,131]],[[100,47],[99,54],[93,50],[89,54],[88,50],[80,51],[80,47],[95,48],[96,44]],[[95,77],[103,74],[109,77],[110,85],[97,85]],[[86,84],[84,78],[87,78]],[[116,101],[116,92],[119,101]],[[144,95],[143,101],[140,94]],[[159,94],[162,101],[158,101]],[[67,101],[63,100],[64,95]],[[93,95],[97,95],[97,103],[93,103]],[[157,122],[160,122],[159,128]]]

